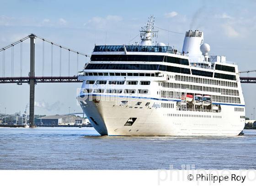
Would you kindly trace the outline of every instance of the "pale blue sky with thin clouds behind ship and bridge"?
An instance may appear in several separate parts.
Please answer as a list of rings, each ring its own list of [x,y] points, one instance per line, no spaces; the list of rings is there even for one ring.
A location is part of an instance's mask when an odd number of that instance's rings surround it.
[[[256,69],[255,0],[1,0],[0,47],[30,33],[90,55],[95,44],[134,44],[139,29],[150,15],[155,26],[185,33],[198,29],[212,55],[225,55],[240,70]],[[161,29],[158,42],[181,51],[184,35]],[[133,39],[133,40],[132,40]],[[131,41],[132,40],[132,41]],[[22,75],[29,72],[28,42],[23,44]],[[46,44],[45,44],[46,45]],[[45,75],[51,73],[50,46],[45,46]],[[53,49],[53,75],[59,75],[59,49]],[[14,47],[14,75],[20,74],[19,46]],[[88,58],[79,59],[82,70]],[[6,52],[6,74],[10,73],[11,52]],[[76,74],[76,56],[71,55],[71,75]],[[36,39],[36,76],[42,75],[42,42]],[[67,74],[68,53],[62,53],[62,73]],[[0,76],[2,54],[0,52]],[[245,73],[244,76],[247,76]],[[256,76],[250,73],[249,76]],[[35,114],[81,112],[76,102],[81,83],[38,83],[35,88]],[[256,84],[242,84],[246,117],[256,107]],[[29,85],[0,84],[1,112],[24,111],[29,102]]]

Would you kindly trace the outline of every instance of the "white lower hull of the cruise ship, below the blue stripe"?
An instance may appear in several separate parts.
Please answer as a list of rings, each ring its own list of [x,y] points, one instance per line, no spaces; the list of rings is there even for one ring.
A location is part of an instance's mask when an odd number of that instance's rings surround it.
[[[121,101],[128,101],[121,104]],[[139,106],[136,104],[141,102]],[[175,99],[125,97],[91,94],[80,105],[101,135],[120,136],[236,136],[244,120],[234,112],[234,105],[221,105],[221,112],[182,111],[162,108],[161,103],[176,106]],[[150,103],[145,106],[146,103]],[[125,125],[128,119],[136,120]]]

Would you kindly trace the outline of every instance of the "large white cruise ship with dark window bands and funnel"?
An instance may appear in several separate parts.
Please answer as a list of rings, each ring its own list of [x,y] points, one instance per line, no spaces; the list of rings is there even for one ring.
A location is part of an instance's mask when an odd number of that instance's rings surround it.
[[[101,135],[235,136],[245,126],[238,66],[209,55],[202,31],[157,42],[154,17],[135,45],[95,45],[78,101]]]

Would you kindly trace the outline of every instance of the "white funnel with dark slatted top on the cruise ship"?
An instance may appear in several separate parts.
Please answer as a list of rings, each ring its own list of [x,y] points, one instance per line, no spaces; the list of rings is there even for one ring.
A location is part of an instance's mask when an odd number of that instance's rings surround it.
[[[202,55],[200,51],[200,46],[203,44],[203,32],[202,31],[192,31],[186,32],[184,43],[182,47],[182,52],[187,53],[190,57],[198,57]]]

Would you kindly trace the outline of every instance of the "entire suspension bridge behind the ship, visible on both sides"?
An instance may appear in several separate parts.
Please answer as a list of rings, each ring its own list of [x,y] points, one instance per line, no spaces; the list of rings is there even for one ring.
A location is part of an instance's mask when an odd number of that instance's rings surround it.
[[[37,43],[38,45],[41,45],[40,47],[35,47],[35,40],[38,39],[41,41],[40,43]],[[24,56],[23,56],[23,46],[24,44],[29,40],[29,57],[26,60],[28,63],[24,63]],[[48,44],[48,47],[50,47],[50,50],[47,51],[46,45]],[[19,47],[17,47],[19,46]],[[41,48],[41,56],[42,59],[38,60],[37,63],[35,63],[36,53],[35,49]],[[56,53],[56,49],[58,52]],[[19,55],[16,54],[16,52],[19,52]],[[8,53],[9,51],[9,53]],[[55,51],[55,52],[54,52]],[[16,83],[18,85],[22,85],[22,83],[28,83],[30,85],[30,99],[29,99],[29,126],[35,127],[34,124],[34,101],[35,101],[35,84],[37,83],[79,83],[82,82],[78,80],[78,71],[81,69],[81,66],[79,65],[80,58],[83,57],[83,66],[85,64],[85,60],[87,57],[90,57],[89,55],[86,55],[83,52],[75,51],[69,47],[64,47],[62,45],[59,45],[55,42],[52,42],[50,40],[47,40],[41,36],[37,36],[35,34],[30,34],[16,42],[12,42],[10,45],[7,45],[5,47],[0,48],[0,52],[2,53],[2,76],[0,77],[0,83]],[[68,62],[64,64],[63,55],[64,52],[66,52],[68,55],[65,58]],[[47,54],[50,53],[48,56]],[[9,54],[9,55],[8,55]],[[57,54],[59,57],[55,57],[54,54]],[[71,64],[71,55],[75,55],[76,58],[76,69],[72,70],[72,67],[74,67],[74,63]],[[9,57],[7,59],[7,56]],[[11,58],[10,58],[11,56]],[[15,59],[19,56],[18,60]],[[40,56],[40,55],[38,55]],[[46,60],[47,57],[50,57],[49,60]],[[87,59],[88,60],[88,59]],[[11,61],[11,63],[10,63]],[[15,64],[14,62],[19,61],[20,64]],[[8,63],[7,63],[8,62]],[[49,63],[50,62],[50,63]],[[41,64],[41,68],[38,68],[41,70],[40,76],[35,76],[35,64],[39,66]],[[45,72],[45,66],[46,64],[50,64],[50,74],[47,74]],[[9,65],[9,66],[8,66]],[[29,70],[27,70],[28,75],[24,76],[24,66],[30,66]],[[58,68],[56,68],[56,65]],[[72,65],[72,67],[71,67]],[[11,66],[11,67],[10,67]],[[54,68],[55,66],[55,68]],[[64,66],[64,68],[63,68]],[[18,67],[18,69],[17,69]],[[67,69],[66,72],[63,73],[63,69]],[[9,74],[7,73],[7,70],[9,70]],[[15,71],[16,70],[16,71]],[[15,72],[19,73],[17,74]],[[249,77],[249,73],[256,72],[256,70],[248,70],[248,71],[241,71],[240,73],[247,73],[247,77],[240,77],[241,83],[256,83],[256,76],[255,77]],[[58,73],[58,75],[56,75]],[[71,75],[73,73],[73,76]]]

